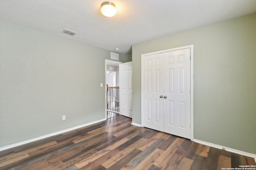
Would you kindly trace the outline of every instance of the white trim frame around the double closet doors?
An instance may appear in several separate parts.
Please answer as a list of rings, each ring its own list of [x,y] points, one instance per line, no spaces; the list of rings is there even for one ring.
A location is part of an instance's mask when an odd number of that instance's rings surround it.
[[[182,50],[190,48],[190,140],[194,141],[194,45],[187,45],[183,47],[177,47],[173,49],[167,49],[162,51],[155,51],[152,53],[146,53],[141,55],[141,127],[144,127],[143,123],[143,57],[148,55],[154,55],[159,53],[166,53],[170,51]]]

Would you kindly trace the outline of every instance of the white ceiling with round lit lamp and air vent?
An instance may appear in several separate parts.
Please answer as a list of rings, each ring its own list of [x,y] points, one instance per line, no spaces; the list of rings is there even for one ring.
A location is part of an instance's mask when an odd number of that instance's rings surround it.
[[[129,53],[136,43],[256,12],[256,0],[112,0],[117,12],[108,18],[104,1],[0,0],[0,20]]]

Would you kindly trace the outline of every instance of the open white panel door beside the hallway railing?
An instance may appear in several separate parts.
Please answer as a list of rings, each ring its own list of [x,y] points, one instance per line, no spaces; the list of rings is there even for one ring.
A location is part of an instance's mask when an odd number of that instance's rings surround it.
[[[120,114],[132,118],[132,62],[120,64]]]

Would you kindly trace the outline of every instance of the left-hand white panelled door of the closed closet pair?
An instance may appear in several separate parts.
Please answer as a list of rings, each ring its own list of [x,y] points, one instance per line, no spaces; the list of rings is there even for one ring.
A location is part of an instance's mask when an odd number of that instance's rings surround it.
[[[143,124],[164,131],[163,53],[143,57]]]

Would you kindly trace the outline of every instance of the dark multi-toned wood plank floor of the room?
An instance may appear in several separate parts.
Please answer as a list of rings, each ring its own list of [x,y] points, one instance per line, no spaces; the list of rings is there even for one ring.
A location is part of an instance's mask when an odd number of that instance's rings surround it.
[[[117,115],[0,152],[0,170],[222,170],[254,158],[131,125]]]

